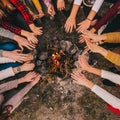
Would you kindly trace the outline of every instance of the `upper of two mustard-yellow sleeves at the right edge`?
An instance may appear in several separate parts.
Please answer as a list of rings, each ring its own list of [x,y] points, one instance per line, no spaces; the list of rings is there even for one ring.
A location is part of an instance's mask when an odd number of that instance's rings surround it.
[[[111,33],[106,33],[103,35],[106,35],[105,42],[120,43],[120,32],[111,32]]]

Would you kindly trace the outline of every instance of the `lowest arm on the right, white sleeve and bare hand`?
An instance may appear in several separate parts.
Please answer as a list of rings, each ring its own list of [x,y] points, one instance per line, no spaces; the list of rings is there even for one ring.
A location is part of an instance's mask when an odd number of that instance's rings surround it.
[[[111,93],[107,92],[106,90],[99,87],[98,85],[95,85],[93,82],[88,80],[83,74],[80,74],[77,71],[74,71],[71,74],[71,77],[74,79],[75,83],[91,89],[92,92],[97,94],[105,102],[107,102],[108,104],[120,110],[120,99],[119,98],[113,96]]]

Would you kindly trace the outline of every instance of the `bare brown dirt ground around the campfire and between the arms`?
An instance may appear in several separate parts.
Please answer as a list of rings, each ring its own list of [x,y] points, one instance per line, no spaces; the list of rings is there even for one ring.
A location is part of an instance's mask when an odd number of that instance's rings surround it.
[[[104,8],[106,10],[106,8]],[[102,11],[100,14],[103,14]],[[81,17],[82,16],[82,17]],[[82,12],[78,14],[78,19],[84,19]],[[78,43],[78,34],[73,31],[67,34],[64,31],[66,17],[59,13],[58,18],[42,20],[44,34],[40,41],[52,39],[70,40],[82,47]],[[80,21],[79,20],[79,21]],[[42,43],[42,42],[41,42]],[[95,67],[108,70],[113,66],[101,55],[91,54],[90,58],[97,61]],[[119,88],[104,86],[101,78],[85,73],[94,83],[119,97]],[[27,94],[23,103],[13,112],[11,120],[120,120],[120,117],[109,111],[106,103],[89,89],[77,84],[73,84],[71,78],[62,80],[57,78],[54,83],[40,86],[37,84]]]

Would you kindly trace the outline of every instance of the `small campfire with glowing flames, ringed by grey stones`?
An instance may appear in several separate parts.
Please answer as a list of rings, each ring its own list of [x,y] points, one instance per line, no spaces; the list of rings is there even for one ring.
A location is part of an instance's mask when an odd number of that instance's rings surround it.
[[[56,77],[69,77],[82,52],[77,45],[67,40],[48,43],[46,51],[36,53],[35,68],[43,76],[41,84],[52,83]]]

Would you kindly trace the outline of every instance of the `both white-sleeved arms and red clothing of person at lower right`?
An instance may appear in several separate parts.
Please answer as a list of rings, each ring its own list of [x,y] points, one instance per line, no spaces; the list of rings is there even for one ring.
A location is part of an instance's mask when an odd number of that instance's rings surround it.
[[[92,81],[88,80],[85,77],[85,75],[81,73],[81,71],[88,71],[90,73],[101,76],[102,78],[109,79],[110,81],[119,85],[120,85],[120,75],[90,66],[87,63],[85,56],[80,56],[78,61],[79,61],[79,67],[71,74],[71,77],[74,79],[73,82],[89,88],[92,92],[94,92],[105,102],[107,102],[107,107],[112,112],[114,112],[117,115],[120,115],[120,99],[113,96],[111,93],[107,92],[100,86],[94,84]]]

